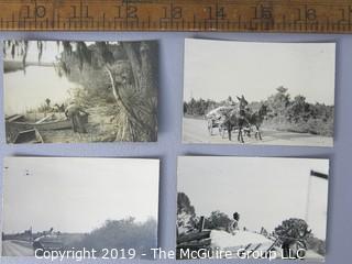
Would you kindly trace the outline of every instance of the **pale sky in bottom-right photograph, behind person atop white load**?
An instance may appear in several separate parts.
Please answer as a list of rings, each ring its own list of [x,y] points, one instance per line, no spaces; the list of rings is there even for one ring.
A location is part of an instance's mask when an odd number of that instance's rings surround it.
[[[273,231],[283,220],[305,219],[314,234],[324,240],[328,160],[266,157],[179,157],[177,191],[185,193],[197,216],[220,210],[238,211],[240,227]]]

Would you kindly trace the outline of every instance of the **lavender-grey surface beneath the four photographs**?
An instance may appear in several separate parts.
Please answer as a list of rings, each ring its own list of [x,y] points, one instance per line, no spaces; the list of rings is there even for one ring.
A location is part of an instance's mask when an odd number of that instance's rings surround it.
[[[182,143],[183,118],[183,55],[185,37],[257,42],[337,42],[336,136],[334,147],[260,146],[260,145],[206,145]],[[0,76],[0,155],[35,156],[91,156],[91,157],[160,157],[160,246],[175,249],[176,223],[176,165],[178,155],[231,155],[231,156],[290,156],[328,157],[330,165],[328,264],[350,263],[352,248],[352,35],[300,35],[300,34],[238,34],[238,33],[0,33],[7,38],[41,40],[160,40],[160,98],[157,143],[95,143],[95,144],[43,144],[7,145]],[[2,61],[2,52],[0,53]],[[289,62],[287,62],[289,63]],[[284,65],[283,65],[284,66]],[[2,63],[0,64],[2,73]],[[253,75],[255,78],[255,75]],[[2,170],[1,170],[2,172]],[[0,180],[1,183],[1,180]],[[1,190],[0,184],[0,191]],[[1,193],[2,194],[2,193]],[[2,196],[1,196],[2,197]],[[55,206],[55,205],[53,205]],[[265,205],[258,205],[265,206]],[[292,205],[295,206],[295,205]],[[270,210],[270,207],[267,208]],[[35,261],[40,263],[41,261]],[[103,261],[94,261],[102,263]],[[131,263],[138,261],[131,261]],[[170,262],[170,261],[164,261]],[[220,261],[202,261],[216,263]],[[221,261],[222,263],[270,263],[270,261]],[[285,263],[287,261],[275,261]],[[29,263],[23,257],[2,257],[1,263]],[[31,260],[34,263],[34,260]],[[43,261],[42,261],[43,263]],[[64,263],[77,263],[65,261]],[[85,263],[88,263],[86,261]]]

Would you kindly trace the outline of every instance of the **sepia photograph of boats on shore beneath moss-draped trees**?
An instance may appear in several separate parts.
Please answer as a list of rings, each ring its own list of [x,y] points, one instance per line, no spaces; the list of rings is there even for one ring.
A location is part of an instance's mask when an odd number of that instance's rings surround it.
[[[8,143],[157,141],[156,41],[2,44]]]

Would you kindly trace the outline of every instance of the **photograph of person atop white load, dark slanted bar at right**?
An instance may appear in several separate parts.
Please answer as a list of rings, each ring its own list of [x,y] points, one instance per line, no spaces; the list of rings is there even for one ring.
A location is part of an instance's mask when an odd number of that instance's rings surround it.
[[[329,161],[184,156],[177,257],[323,261]]]

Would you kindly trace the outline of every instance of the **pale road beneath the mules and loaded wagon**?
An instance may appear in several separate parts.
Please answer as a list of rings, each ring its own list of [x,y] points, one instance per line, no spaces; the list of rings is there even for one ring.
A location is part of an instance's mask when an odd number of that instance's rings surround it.
[[[201,119],[184,118],[184,142],[185,143],[215,143],[215,144],[241,144],[238,142],[238,134],[233,132],[232,141],[222,139],[217,128],[210,135],[207,129],[207,121]],[[332,138],[312,135],[308,133],[293,133],[262,129],[262,141],[244,136],[245,144],[265,145],[308,145],[308,146],[332,146]]]

